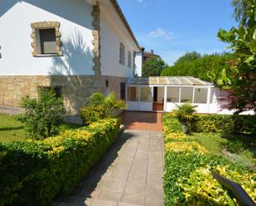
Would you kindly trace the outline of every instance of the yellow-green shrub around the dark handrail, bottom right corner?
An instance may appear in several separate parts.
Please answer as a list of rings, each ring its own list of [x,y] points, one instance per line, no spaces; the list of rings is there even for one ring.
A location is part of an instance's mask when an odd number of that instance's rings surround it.
[[[213,170],[239,183],[254,201],[256,200],[256,174],[243,174],[230,170],[228,166],[216,166]],[[227,191],[211,175],[211,170],[202,167],[191,173],[188,180],[179,180],[181,191],[188,205],[239,205],[238,200],[229,196]]]

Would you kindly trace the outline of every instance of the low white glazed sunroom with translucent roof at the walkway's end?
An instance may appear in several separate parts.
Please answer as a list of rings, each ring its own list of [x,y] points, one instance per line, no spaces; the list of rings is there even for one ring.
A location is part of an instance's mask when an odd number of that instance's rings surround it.
[[[221,107],[220,98],[225,97],[225,91],[190,76],[137,77],[128,80],[126,89],[128,110],[131,111],[171,112],[183,103],[192,103],[197,106],[197,113],[234,113]]]

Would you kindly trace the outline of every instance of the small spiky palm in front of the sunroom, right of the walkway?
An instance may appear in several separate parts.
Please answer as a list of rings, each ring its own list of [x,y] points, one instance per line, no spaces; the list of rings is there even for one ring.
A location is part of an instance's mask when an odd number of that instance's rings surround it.
[[[183,132],[189,134],[191,132],[191,122],[195,120],[196,117],[196,107],[190,103],[182,104],[181,106],[176,105],[177,109],[174,110],[176,117],[182,125]]]

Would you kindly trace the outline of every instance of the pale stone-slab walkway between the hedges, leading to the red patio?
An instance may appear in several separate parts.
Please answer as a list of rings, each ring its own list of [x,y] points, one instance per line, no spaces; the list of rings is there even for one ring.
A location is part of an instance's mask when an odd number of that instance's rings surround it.
[[[162,206],[162,132],[126,130],[86,179],[52,206]]]

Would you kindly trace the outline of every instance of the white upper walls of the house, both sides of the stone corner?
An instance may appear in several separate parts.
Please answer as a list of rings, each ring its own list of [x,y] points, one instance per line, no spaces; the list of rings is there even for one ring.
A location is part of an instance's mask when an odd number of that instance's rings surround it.
[[[0,0],[0,75],[93,75],[93,5],[86,0]],[[99,1],[101,74],[130,78],[128,50],[138,51],[110,1]],[[31,54],[31,23],[60,22],[63,56]],[[126,64],[119,64],[119,43]],[[133,58],[133,56],[132,56]]]

